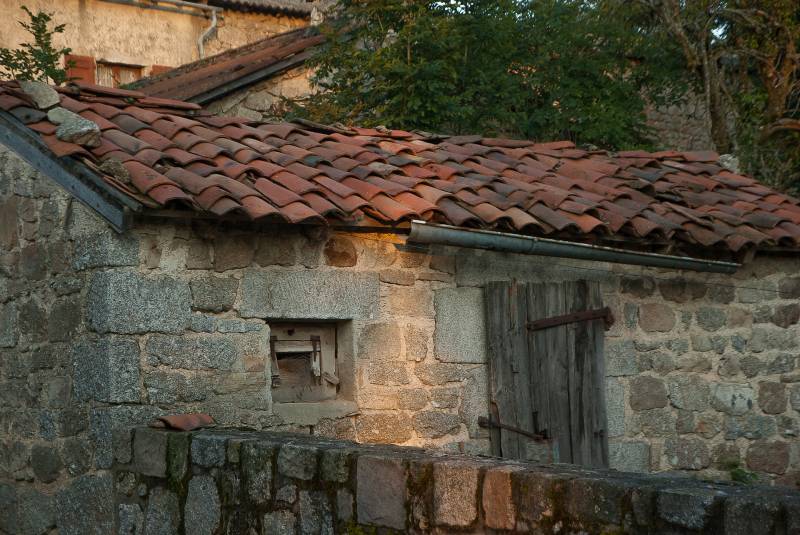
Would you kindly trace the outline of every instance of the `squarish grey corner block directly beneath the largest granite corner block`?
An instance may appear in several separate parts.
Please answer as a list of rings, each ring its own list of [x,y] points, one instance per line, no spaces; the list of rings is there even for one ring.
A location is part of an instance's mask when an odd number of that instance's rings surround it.
[[[119,336],[80,340],[72,351],[73,393],[84,401],[139,401],[139,344]]]

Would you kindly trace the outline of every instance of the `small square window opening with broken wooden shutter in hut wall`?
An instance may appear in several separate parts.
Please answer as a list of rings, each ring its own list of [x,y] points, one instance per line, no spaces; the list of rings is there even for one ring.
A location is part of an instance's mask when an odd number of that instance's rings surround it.
[[[272,399],[278,403],[336,399],[336,325],[273,324],[271,328]]]

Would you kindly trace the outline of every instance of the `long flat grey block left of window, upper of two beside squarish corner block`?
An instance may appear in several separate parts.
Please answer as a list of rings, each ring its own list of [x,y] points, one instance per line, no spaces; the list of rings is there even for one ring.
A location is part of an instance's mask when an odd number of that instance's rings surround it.
[[[184,370],[230,370],[238,358],[230,336],[153,335],[147,341],[147,361]]]

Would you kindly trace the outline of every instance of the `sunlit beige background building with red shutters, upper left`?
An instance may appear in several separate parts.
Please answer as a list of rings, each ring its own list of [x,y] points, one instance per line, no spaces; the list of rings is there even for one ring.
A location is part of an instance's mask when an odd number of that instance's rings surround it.
[[[313,9],[303,0],[2,0],[0,47],[29,41],[21,6],[65,25],[54,46],[72,49],[71,77],[114,87],[307,26]]]

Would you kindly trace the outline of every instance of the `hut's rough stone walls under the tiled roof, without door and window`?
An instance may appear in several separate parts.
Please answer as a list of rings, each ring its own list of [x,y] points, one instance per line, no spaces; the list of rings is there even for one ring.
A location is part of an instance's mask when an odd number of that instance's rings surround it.
[[[612,467],[796,484],[797,258],[710,276],[398,241],[183,220],[119,236],[0,153],[0,511],[13,493],[26,522],[62,525],[115,430],[165,412],[486,453],[482,286],[510,279],[602,283]],[[272,403],[275,319],[338,322],[341,399]]]

